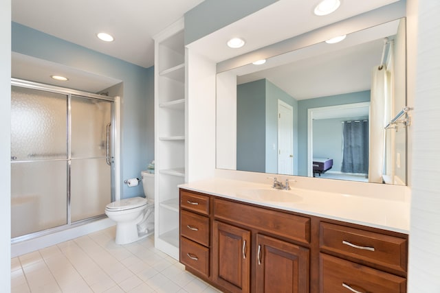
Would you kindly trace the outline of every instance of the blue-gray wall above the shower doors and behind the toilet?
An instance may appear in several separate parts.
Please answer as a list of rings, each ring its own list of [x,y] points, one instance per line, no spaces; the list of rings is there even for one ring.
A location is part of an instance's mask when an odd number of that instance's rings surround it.
[[[144,68],[12,23],[12,51],[122,80],[121,180],[140,178],[154,158],[154,69]],[[122,184],[121,198],[143,194]]]

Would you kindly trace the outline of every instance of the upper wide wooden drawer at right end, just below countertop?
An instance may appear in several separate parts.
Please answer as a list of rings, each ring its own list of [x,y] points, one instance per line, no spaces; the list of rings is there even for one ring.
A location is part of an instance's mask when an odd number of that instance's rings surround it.
[[[320,248],[406,272],[408,241],[403,238],[321,222]]]

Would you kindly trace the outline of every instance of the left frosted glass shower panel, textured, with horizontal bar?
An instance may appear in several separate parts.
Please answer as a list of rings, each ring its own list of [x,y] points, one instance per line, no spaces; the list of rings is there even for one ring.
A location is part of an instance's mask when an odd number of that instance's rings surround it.
[[[11,237],[67,224],[67,95],[11,88]]]

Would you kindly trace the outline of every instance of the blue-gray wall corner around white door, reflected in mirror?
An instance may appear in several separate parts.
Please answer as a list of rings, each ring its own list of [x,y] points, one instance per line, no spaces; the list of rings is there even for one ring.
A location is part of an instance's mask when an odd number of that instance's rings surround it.
[[[237,170],[278,172],[278,99],[294,108],[296,133],[294,98],[265,79],[237,86]]]

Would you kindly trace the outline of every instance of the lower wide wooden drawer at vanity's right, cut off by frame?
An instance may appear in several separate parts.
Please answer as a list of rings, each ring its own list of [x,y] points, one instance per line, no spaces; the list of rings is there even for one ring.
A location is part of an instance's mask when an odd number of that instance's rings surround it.
[[[321,293],[406,292],[404,278],[323,253],[320,253],[320,279]]]

